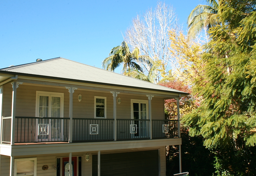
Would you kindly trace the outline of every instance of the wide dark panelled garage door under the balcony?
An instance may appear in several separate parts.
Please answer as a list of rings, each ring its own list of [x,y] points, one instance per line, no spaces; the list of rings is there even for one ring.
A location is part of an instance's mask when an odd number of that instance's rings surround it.
[[[158,176],[158,150],[100,155],[101,176]],[[92,176],[98,176],[98,155],[92,155]]]

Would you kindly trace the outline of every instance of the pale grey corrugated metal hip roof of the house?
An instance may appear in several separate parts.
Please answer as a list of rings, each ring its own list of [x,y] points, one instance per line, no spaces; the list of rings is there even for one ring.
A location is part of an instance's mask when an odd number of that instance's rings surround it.
[[[34,74],[42,76],[52,76],[58,78],[92,81],[97,84],[115,84],[117,86],[129,86],[138,88],[149,88],[188,94],[172,88],[167,88],[147,81],[138,80],[122,74],[117,74],[97,67],[75,62],[64,58],[54,58],[29,64],[7,67],[0,69],[2,71]]]

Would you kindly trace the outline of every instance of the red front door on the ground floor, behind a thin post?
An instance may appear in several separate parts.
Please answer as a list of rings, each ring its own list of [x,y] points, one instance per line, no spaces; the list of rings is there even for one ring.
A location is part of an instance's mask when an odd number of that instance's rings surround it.
[[[77,176],[77,157],[72,157],[72,176]],[[62,158],[62,176],[69,176],[69,158]]]

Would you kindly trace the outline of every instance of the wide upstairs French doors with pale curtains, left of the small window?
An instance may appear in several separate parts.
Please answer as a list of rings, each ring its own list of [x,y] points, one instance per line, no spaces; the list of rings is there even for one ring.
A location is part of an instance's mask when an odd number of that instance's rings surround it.
[[[60,141],[63,139],[63,93],[37,91],[36,134],[38,141]],[[53,119],[45,118],[53,117]]]

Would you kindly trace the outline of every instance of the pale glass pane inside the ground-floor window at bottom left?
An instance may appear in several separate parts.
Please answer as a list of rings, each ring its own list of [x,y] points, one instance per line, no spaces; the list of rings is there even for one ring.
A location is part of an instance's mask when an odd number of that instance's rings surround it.
[[[34,160],[17,161],[17,175],[33,174]]]

